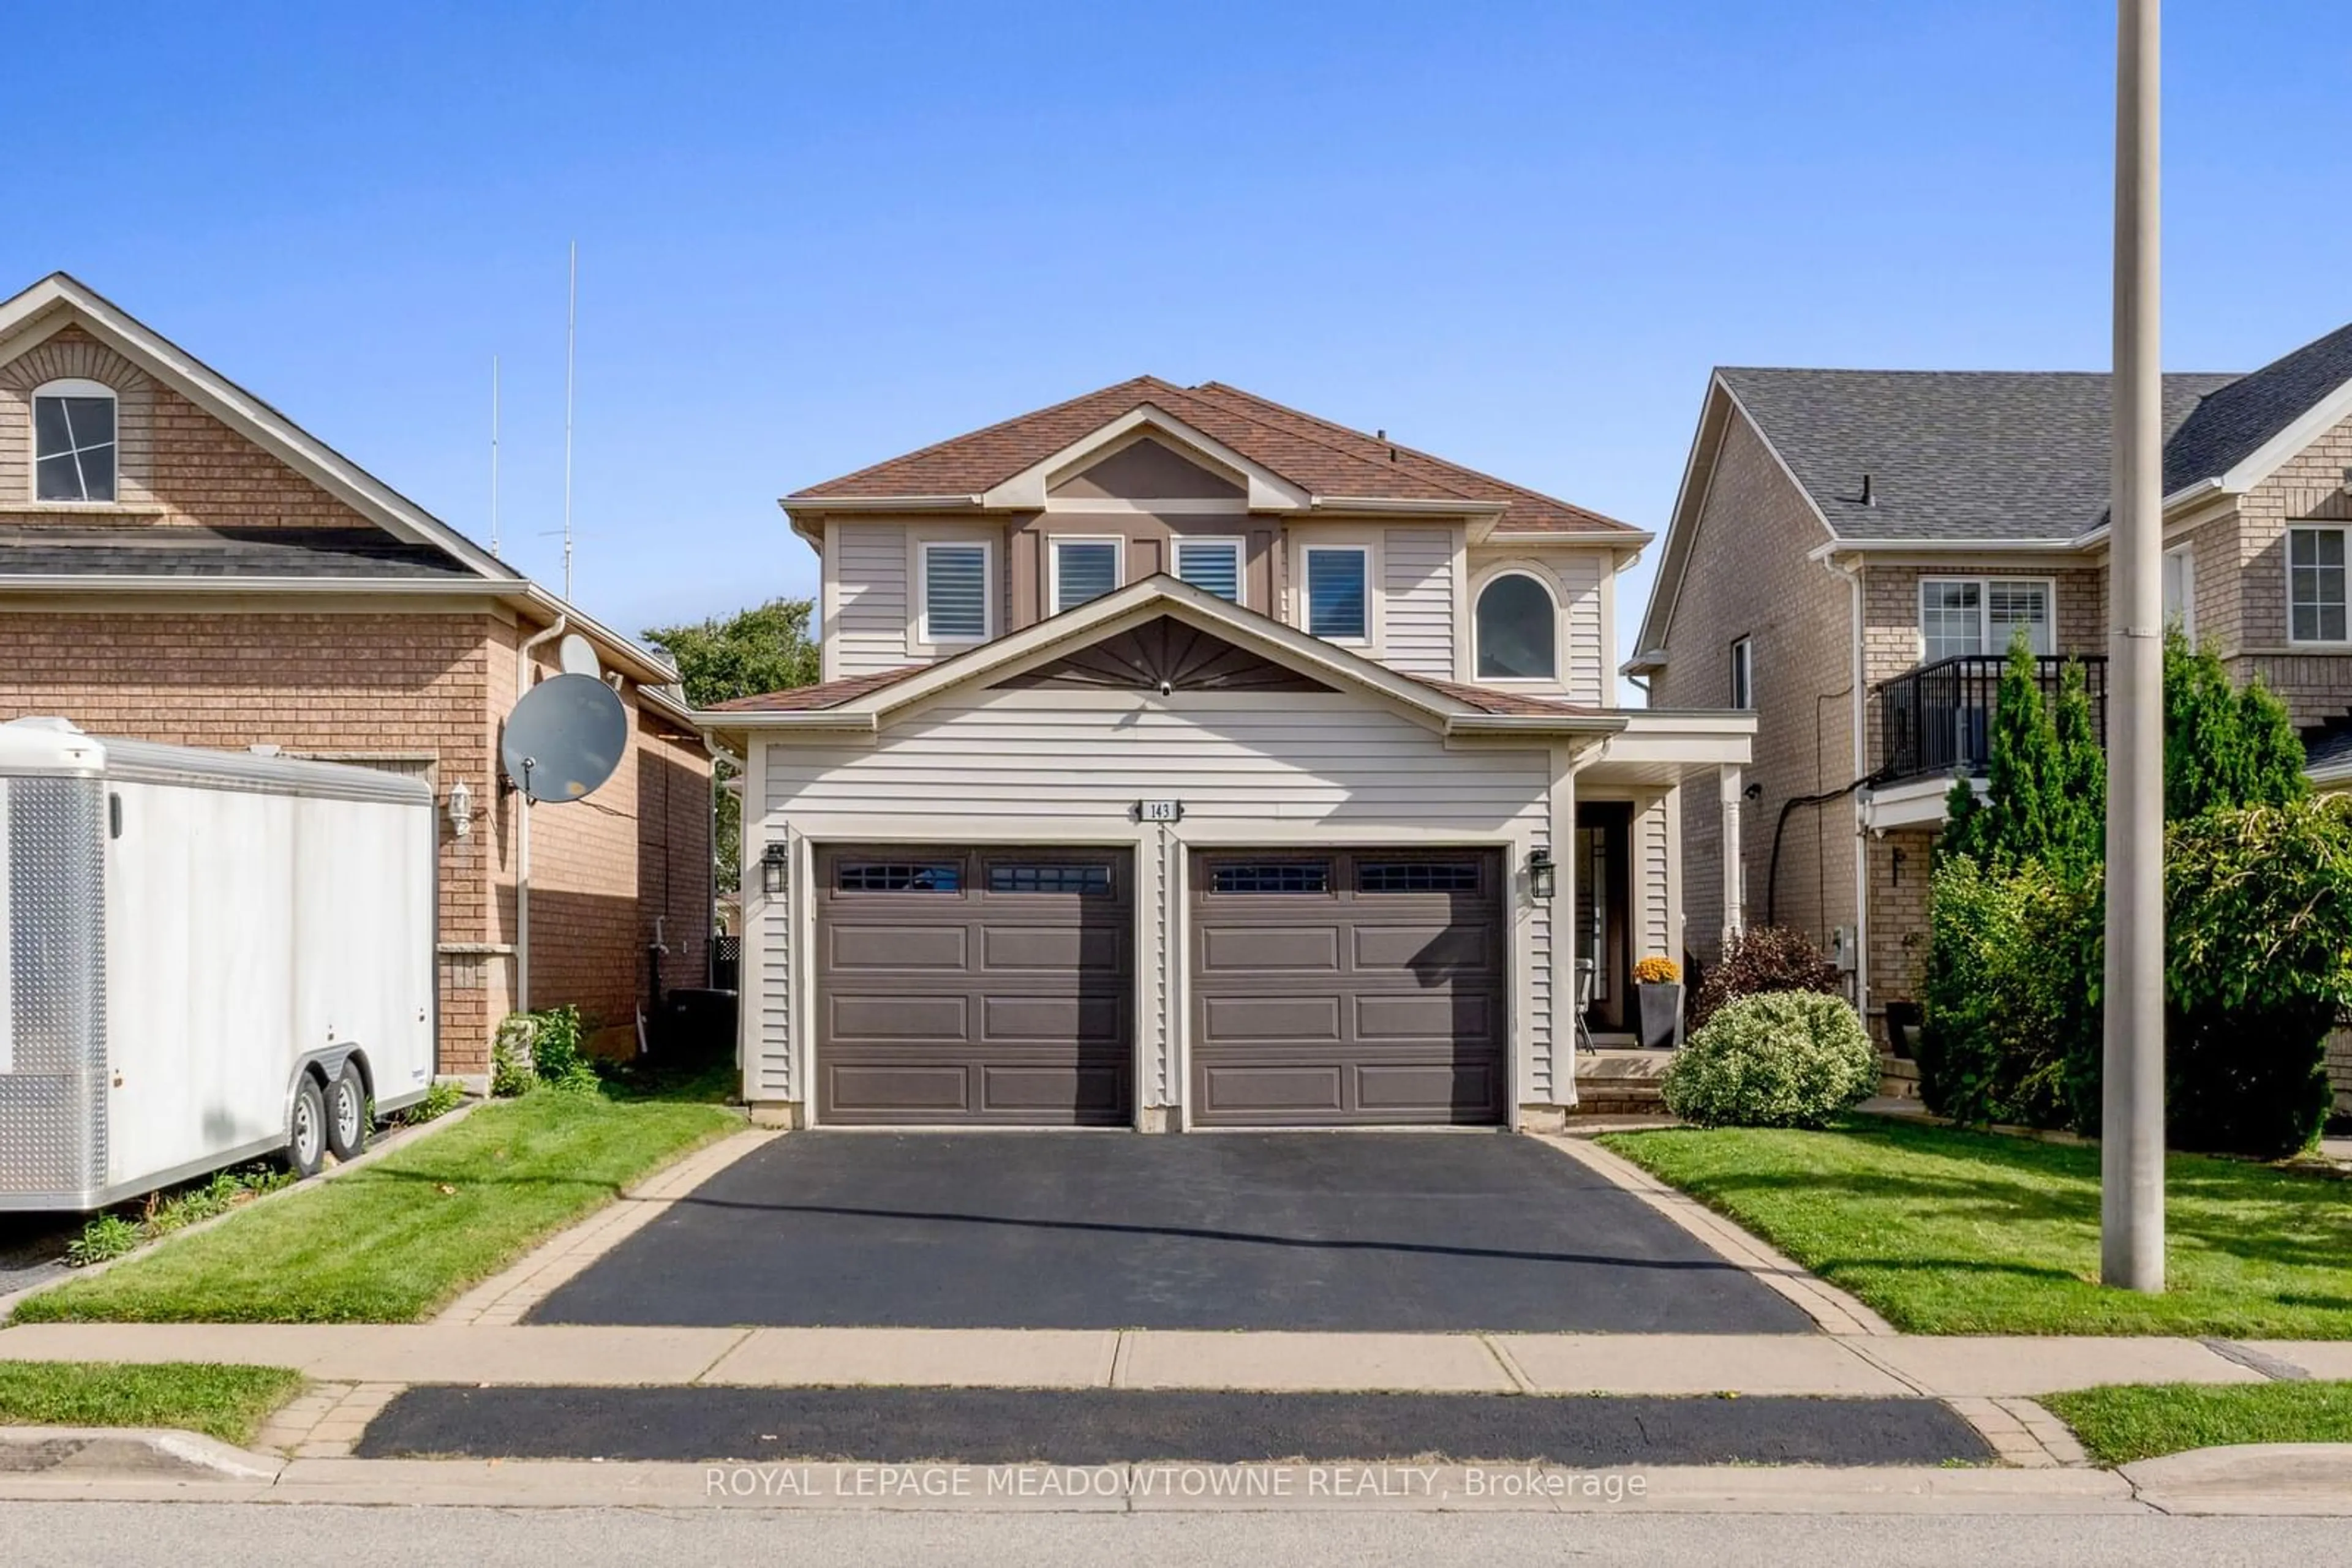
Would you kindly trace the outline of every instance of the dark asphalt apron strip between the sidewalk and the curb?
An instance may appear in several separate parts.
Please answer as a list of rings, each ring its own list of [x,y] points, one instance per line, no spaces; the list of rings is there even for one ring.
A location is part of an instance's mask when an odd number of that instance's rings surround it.
[[[1197,1389],[419,1387],[360,1458],[1127,1465],[1524,1460],[1943,1465],[1992,1448],[1936,1399],[1524,1399]]]

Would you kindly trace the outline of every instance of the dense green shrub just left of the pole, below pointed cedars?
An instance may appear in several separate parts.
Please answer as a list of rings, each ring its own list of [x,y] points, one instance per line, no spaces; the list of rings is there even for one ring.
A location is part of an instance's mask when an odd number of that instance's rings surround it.
[[[2098,1117],[2103,924],[2098,867],[1985,870],[1966,856],[1936,867],[1919,994],[1919,1098],[1931,1112],[1978,1126]]]

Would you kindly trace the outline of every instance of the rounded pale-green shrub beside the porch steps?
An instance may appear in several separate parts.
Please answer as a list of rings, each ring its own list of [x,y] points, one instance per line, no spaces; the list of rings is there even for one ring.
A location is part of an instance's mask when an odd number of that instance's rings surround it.
[[[1844,997],[1764,992],[1726,1004],[1665,1070],[1665,1107],[1698,1126],[1825,1126],[1879,1084]]]

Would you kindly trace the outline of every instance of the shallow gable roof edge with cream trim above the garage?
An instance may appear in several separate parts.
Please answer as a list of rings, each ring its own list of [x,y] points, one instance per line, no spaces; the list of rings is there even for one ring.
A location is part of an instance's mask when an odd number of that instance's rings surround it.
[[[974,649],[929,665],[901,665],[870,675],[851,675],[818,686],[793,691],[769,691],[762,696],[734,698],[701,710],[696,717],[708,729],[877,729],[891,710],[917,703],[927,696],[997,679],[1014,670],[1025,670],[1051,658],[1061,658],[1077,646],[1112,637],[1155,616],[1176,616],[1225,637],[1244,649],[1258,651],[1275,663],[1303,670],[1336,686],[1371,691],[1418,712],[1435,729],[1538,729],[1555,733],[1613,733],[1625,726],[1625,715],[1606,708],[1583,708],[1548,698],[1522,696],[1517,691],[1486,691],[1482,686],[1458,686],[1454,682],[1421,679],[1364,658],[1350,649],[1324,642],[1284,625],[1254,609],[1232,604],[1211,592],[1171,576],[1148,576],[1141,583],[1065,609],[1058,616],[1025,625],[1018,632],[983,642]]]

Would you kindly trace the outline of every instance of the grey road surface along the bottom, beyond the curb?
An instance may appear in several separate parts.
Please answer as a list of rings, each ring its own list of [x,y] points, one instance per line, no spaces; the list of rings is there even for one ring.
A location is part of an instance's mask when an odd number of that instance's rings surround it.
[[[2326,1563],[2340,1519],[1752,1516],[1752,1514],[739,1514],[642,1509],[346,1509],[285,1505],[0,1505],[0,1561],[28,1568],[400,1563],[1197,1563],[1609,1561],[1637,1568],[2211,1568]]]

